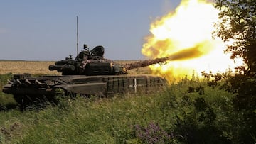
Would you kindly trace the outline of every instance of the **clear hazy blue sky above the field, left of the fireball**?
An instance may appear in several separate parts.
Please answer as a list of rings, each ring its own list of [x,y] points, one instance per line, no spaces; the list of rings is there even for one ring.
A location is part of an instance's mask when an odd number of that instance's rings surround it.
[[[111,60],[144,60],[150,24],[180,0],[0,0],[0,60],[63,60],[87,44]]]

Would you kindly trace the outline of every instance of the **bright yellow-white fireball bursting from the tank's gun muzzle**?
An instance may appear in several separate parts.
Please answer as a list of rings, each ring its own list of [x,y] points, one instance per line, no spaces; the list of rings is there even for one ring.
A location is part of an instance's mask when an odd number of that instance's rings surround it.
[[[151,65],[154,74],[169,81],[183,77],[200,77],[202,71],[225,72],[242,65],[224,53],[225,43],[213,38],[213,23],[218,21],[218,9],[207,1],[182,0],[166,16],[151,23],[151,35],[146,37],[142,54],[150,58],[169,57],[165,65]]]

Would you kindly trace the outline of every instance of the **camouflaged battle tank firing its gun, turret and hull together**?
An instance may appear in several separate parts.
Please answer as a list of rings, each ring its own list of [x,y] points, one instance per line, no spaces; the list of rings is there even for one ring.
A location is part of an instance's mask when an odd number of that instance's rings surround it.
[[[167,57],[120,65],[105,59],[104,52],[101,45],[92,50],[84,45],[84,50],[75,59],[70,56],[49,65],[49,70],[57,70],[61,75],[32,77],[31,74],[14,74],[3,92],[13,94],[17,103],[25,106],[43,100],[55,101],[59,93],[64,96],[111,96],[126,92],[149,92],[166,85],[166,79],[162,77],[128,75],[127,70],[166,62]]]

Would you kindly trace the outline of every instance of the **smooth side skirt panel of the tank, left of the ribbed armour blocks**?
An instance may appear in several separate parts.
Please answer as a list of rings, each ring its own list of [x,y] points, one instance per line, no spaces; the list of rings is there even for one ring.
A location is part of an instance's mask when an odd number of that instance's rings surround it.
[[[75,94],[89,94],[89,95],[106,95],[107,83],[95,82],[86,84],[61,84],[56,85],[55,88],[61,88],[67,92]]]

